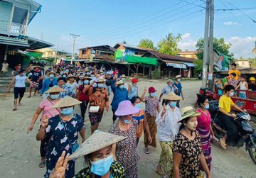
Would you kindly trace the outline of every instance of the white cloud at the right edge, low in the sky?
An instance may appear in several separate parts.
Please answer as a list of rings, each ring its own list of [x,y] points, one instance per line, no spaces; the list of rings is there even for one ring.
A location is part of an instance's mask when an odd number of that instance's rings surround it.
[[[226,42],[231,43],[230,52],[233,52],[234,57],[239,59],[240,57],[254,57],[252,49],[255,47],[256,36],[247,36],[246,38],[240,38],[238,36],[231,37]]]

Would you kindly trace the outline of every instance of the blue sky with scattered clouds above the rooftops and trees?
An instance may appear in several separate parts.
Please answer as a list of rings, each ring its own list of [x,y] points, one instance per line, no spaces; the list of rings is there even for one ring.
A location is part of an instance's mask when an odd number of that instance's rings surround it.
[[[166,34],[182,35],[181,50],[196,50],[204,36],[203,0],[35,0],[42,5],[28,26],[28,35],[58,45],[71,52],[73,38],[78,48],[111,45],[126,41],[138,45],[142,39],[157,43]],[[215,9],[252,8],[241,11],[215,11],[214,36],[231,43],[235,58],[255,57],[255,0],[215,0]],[[245,14],[246,15],[245,15]],[[248,17],[249,16],[249,17]],[[252,18],[252,19],[250,19]]]

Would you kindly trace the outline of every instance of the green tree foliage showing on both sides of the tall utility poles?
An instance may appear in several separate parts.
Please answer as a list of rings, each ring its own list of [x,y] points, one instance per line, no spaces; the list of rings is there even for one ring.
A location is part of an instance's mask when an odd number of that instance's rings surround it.
[[[199,60],[203,60],[203,44],[204,39],[200,38],[196,43],[196,57]],[[213,38],[213,48],[218,50],[218,52],[223,53],[224,55],[233,56],[233,53],[230,53],[229,50],[231,48],[231,43],[225,43],[224,38]]]

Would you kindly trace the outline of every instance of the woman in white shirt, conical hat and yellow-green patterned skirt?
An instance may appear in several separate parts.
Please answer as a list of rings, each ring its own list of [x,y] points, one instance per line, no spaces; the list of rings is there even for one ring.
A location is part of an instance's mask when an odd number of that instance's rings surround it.
[[[157,135],[161,145],[161,155],[159,165],[156,167],[156,173],[161,177],[173,177],[173,152],[175,136],[178,134],[178,129],[181,120],[181,112],[176,106],[177,101],[181,98],[174,94],[173,91],[163,98],[168,104],[161,109],[156,118]]]

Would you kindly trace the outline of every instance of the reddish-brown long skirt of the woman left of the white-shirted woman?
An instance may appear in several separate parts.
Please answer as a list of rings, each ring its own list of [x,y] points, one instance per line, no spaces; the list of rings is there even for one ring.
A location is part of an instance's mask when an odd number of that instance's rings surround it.
[[[151,145],[152,147],[156,148],[156,133],[157,133],[157,124],[156,124],[156,117],[150,116],[150,114],[146,113],[146,121],[149,124],[149,132],[152,138],[152,143],[149,144],[149,135],[146,133],[146,129],[144,128],[144,145],[148,146]]]

